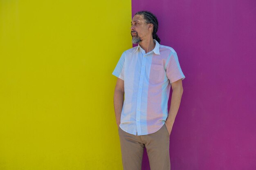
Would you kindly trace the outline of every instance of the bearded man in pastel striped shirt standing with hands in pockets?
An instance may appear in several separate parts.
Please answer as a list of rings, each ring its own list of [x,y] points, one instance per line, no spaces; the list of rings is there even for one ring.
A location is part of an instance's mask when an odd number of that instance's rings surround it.
[[[131,25],[132,43],[138,46],[124,51],[112,73],[118,77],[114,107],[123,168],[141,170],[146,147],[151,170],[170,170],[169,139],[185,76],[174,49],[159,44],[155,15],[139,11]]]

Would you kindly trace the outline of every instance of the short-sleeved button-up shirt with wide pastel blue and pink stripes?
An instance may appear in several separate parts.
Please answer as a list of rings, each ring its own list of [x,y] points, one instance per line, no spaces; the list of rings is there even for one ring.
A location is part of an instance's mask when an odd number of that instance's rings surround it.
[[[164,125],[171,83],[185,78],[174,49],[153,41],[148,53],[139,45],[124,51],[112,73],[124,80],[119,126],[133,135],[148,135]]]

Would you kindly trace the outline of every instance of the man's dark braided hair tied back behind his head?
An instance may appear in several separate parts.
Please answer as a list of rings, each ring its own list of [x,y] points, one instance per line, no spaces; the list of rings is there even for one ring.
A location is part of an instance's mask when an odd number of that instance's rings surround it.
[[[157,36],[157,30],[158,30],[158,21],[157,21],[157,17],[149,12],[149,11],[139,11],[136,12],[135,15],[142,15],[146,24],[153,24],[153,39],[157,40],[157,42],[160,43],[160,38]]]

